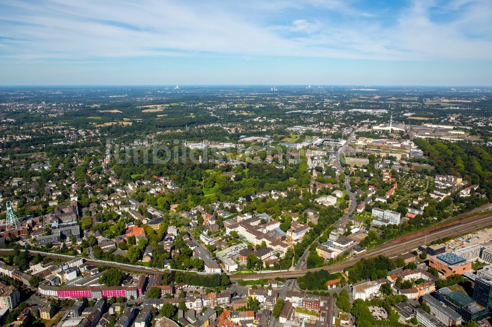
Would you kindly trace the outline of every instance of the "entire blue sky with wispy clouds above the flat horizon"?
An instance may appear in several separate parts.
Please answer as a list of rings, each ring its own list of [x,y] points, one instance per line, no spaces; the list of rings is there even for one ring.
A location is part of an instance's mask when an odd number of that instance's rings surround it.
[[[0,84],[492,85],[490,0],[2,0]]]

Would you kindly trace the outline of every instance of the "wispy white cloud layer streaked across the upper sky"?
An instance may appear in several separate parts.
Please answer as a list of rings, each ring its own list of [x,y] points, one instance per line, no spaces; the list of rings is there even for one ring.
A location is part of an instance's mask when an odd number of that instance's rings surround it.
[[[416,0],[393,13],[399,17],[393,24],[341,0],[267,2],[239,7],[159,0],[11,0],[0,4],[0,36],[17,41],[0,41],[0,49],[4,57],[20,59],[196,53],[376,60],[492,55],[487,0],[453,1],[442,10],[459,10],[460,15],[450,14],[443,22],[432,19],[439,3]]]

